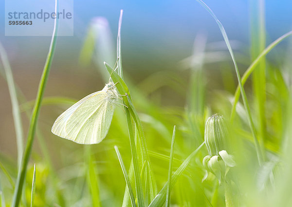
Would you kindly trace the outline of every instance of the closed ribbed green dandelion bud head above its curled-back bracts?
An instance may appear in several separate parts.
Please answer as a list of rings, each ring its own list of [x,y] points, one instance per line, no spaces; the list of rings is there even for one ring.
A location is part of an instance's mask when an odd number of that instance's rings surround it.
[[[223,116],[214,114],[208,118],[205,126],[205,144],[211,156],[219,151],[228,150],[228,128]]]

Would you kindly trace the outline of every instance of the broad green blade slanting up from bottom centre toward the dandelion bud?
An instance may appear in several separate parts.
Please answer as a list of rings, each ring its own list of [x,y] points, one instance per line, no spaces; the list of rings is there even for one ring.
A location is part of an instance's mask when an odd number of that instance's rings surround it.
[[[193,151],[184,161],[183,164],[173,173],[170,189],[174,187],[176,182],[178,181],[179,177],[182,175],[183,170],[186,169],[188,164],[190,163],[191,159],[198,153],[198,151],[205,145],[203,142],[195,151]],[[165,202],[166,198],[166,190],[167,190],[167,183],[164,187],[160,190],[160,192],[156,195],[154,200],[150,203],[149,207],[162,207]]]

